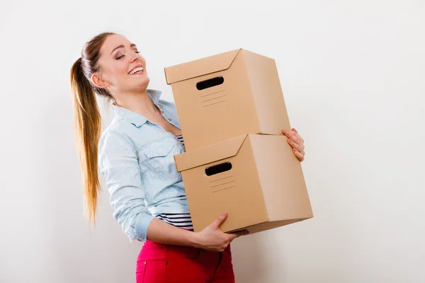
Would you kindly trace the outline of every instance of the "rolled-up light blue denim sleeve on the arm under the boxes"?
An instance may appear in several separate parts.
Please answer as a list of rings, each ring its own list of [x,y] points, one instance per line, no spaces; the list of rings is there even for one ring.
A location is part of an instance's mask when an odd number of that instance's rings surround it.
[[[98,167],[106,177],[114,209],[113,217],[131,242],[146,241],[147,226],[154,217],[145,207],[136,150],[121,134],[110,129],[99,141],[98,156]]]

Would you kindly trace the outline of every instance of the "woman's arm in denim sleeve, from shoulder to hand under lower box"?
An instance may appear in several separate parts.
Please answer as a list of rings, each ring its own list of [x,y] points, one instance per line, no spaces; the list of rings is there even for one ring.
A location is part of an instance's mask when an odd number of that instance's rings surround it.
[[[223,233],[220,224],[226,214],[218,217],[199,233],[183,230],[154,218],[145,207],[140,166],[132,144],[118,132],[109,130],[99,142],[99,167],[106,177],[106,187],[114,208],[113,216],[130,241],[193,246],[205,250],[224,250],[246,232]]]

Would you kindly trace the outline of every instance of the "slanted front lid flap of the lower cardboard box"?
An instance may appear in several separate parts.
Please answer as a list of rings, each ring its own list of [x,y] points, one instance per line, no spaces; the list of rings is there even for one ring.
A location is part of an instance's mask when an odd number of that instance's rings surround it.
[[[176,161],[177,171],[185,171],[198,166],[219,161],[225,158],[235,156],[241,148],[247,134],[233,139],[217,142],[209,146],[194,149],[193,151],[185,152],[184,154],[176,154],[174,161]]]

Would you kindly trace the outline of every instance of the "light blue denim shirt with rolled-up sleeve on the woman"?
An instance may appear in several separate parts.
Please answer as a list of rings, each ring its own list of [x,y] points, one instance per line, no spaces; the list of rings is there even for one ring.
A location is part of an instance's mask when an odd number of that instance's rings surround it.
[[[174,103],[159,100],[161,91],[147,90],[153,103],[180,129]],[[185,151],[174,134],[147,118],[113,104],[115,118],[101,134],[98,167],[106,177],[113,217],[130,241],[146,241],[155,216],[188,213],[181,173],[174,155]]]

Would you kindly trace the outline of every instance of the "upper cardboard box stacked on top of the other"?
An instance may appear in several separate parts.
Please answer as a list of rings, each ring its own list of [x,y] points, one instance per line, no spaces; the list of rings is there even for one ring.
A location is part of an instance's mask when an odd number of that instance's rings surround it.
[[[165,68],[186,151],[241,134],[290,129],[276,63],[233,50]]]

